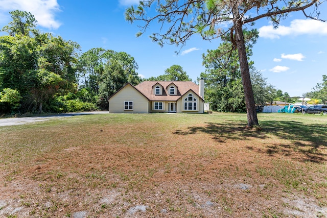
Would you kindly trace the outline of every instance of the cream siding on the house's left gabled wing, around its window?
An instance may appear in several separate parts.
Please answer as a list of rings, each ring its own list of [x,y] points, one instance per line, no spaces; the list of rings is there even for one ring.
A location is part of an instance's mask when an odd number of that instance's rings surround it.
[[[133,102],[133,110],[124,110],[124,102]],[[109,113],[149,113],[149,101],[130,84],[109,100]]]

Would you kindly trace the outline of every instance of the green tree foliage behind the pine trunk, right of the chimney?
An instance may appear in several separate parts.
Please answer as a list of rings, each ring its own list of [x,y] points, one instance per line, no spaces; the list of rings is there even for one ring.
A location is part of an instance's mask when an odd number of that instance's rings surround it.
[[[258,31],[244,31],[246,52],[252,54],[252,46],[258,38]],[[203,54],[206,71],[201,73],[205,79],[205,98],[212,102],[213,110],[222,112],[245,112],[245,97],[241,78],[238,52],[232,49],[230,36],[223,38],[217,50],[208,50]],[[250,78],[255,104],[264,105],[273,100],[274,88],[267,84],[266,79],[250,64]]]

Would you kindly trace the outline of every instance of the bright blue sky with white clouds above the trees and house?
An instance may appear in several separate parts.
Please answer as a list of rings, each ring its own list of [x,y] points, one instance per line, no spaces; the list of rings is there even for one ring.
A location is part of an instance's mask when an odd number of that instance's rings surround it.
[[[137,3],[138,0],[0,0],[0,27],[11,21],[10,11],[28,11],[38,20],[38,29],[78,42],[81,53],[93,47],[126,52],[135,58],[137,72],[144,78],[162,75],[165,69],[178,64],[195,81],[205,70],[202,54],[217,49],[220,40],[204,41],[194,35],[176,55],[179,47],[161,48],[149,38],[157,30],[157,23],[136,38],[137,24],[142,23],[125,21],[124,12]],[[324,3],[320,9],[321,19],[327,19],[326,6]],[[305,19],[297,12],[282,20],[278,29],[273,29],[265,18],[256,21],[255,28],[260,37],[251,60],[268,83],[291,96],[302,96],[322,82],[322,75],[327,75],[327,22]]]

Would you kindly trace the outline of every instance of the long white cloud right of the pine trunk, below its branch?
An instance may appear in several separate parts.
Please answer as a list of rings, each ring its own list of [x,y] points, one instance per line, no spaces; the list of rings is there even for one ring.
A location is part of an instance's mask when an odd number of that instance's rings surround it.
[[[259,36],[270,39],[279,39],[281,36],[297,36],[297,35],[327,35],[327,23],[319,20],[303,20],[295,19],[291,21],[289,27],[278,26],[273,28],[270,26],[263,26],[259,29]]]

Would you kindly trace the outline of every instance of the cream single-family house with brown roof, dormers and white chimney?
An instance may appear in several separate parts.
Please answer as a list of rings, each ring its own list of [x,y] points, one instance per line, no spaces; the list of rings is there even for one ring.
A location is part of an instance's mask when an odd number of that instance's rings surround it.
[[[125,84],[109,98],[109,113],[203,113],[204,80]]]

